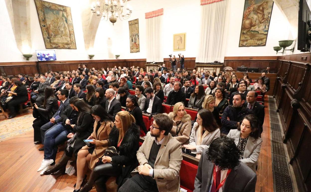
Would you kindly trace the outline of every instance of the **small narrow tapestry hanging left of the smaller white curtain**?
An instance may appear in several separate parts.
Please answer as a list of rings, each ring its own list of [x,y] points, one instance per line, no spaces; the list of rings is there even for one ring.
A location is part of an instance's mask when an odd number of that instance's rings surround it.
[[[130,52],[139,52],[139,27],[138,19],[128,21],[128,28],[130,32]]]

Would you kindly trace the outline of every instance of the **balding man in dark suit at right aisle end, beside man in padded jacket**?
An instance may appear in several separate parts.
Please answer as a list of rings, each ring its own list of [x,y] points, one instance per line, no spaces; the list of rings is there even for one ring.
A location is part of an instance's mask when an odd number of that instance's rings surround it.
[[[246,96],[246,107],[253,110],[254,115],[259,119],[260,131],[262,133],[262,125],[265,119],[265,106],[256,101],[258,93],[256,91],[248,91]]]

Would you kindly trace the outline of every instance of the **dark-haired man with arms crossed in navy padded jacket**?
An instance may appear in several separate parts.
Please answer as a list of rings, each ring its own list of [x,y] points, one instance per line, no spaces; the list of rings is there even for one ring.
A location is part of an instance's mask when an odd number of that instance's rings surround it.
[[[244,102],[244,94],[235,93],[233,96],[233,105],[226,107],[221,116],[221,133],[228,134],[230,129],[237,129],[246,115],[253,114],[251,109],[244,107]]]

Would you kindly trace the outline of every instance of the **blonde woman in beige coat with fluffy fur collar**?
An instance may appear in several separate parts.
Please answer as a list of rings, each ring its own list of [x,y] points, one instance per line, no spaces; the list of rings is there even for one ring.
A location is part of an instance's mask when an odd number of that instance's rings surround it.
[[[191,116],[185,111],[185,105],[178,102],[174,105],[173,112],[168,116],[173,120],[173,128],[169,132],[175,137],[180,144],[188,144],[191,134]]]

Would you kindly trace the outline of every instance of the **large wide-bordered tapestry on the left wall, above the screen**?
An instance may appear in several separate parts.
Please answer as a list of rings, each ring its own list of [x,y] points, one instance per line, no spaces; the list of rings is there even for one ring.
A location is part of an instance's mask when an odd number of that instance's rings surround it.
[[[70,7],[35,0],[47,49],[77,49]]]

